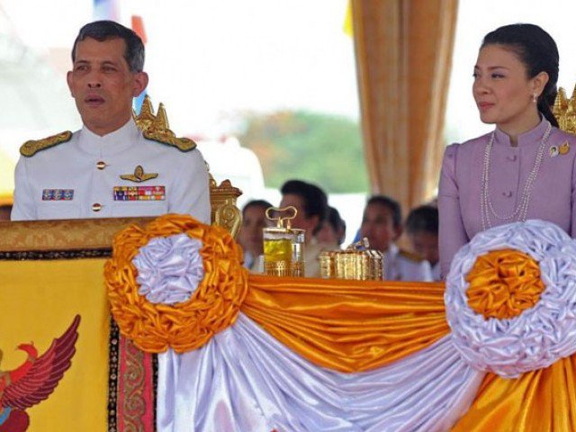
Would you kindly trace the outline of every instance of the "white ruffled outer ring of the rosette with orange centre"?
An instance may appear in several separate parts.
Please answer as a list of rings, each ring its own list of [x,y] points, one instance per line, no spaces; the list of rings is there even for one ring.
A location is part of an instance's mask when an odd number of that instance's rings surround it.
[[[485,319],[471,309],[466,275],[477,257],[517,249],[540,266],[545,291],[510,319]],[[576,352],[576,241],[554,223],[527,220],[488,229],[455,255],[446,277],[446,316],[455,347],[474,369],[514,378]]]

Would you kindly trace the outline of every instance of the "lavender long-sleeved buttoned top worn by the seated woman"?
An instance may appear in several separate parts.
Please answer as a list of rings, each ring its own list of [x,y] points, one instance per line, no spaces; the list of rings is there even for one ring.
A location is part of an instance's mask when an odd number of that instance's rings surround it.
[[[491,150],[489,199],[500,216],[513,213],[522,200],[527,178],[533,171],[538,147],[548,121],[518,137],[518,146],[496,129]],[[455,253],[482,230],[481,199],[484,152],[491,133],[446,148],[440,175],[440,263],[446,276]],[[561,154],[568,148],[568,152]],[[554,156],[553,156],[554,155]],[[545,142],[542,163],[533,183],[527,219],[554,222],[572,237],[576,235],[576,136],[552,129]],[[518,220],[500,220],[490,213],[491,226]]]

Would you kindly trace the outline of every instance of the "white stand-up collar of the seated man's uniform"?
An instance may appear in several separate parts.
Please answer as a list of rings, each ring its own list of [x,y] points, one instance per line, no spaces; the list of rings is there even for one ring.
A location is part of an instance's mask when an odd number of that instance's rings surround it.
[[[78,147],[90,155],[107,157],[130,148],[139,139],[140,133],[132,119],[103,137],[84,126],[78,132]]]

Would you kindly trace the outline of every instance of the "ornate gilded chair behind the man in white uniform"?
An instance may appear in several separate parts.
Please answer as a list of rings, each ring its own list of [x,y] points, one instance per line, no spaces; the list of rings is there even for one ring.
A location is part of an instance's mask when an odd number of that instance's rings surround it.
[[[175,133],[168,126],[164,104],[158,105],[158,112],[154,115],[148,94],[144,98],[139,115],[134,113],[134,121],[144,134],[175,139]],[[238,196],[241,194],[242,191],[232,186],[229,180],[224,180],[218,185],[210,175],[211,223],[228,229],[234,238],[238,235],[242,224],[242,213],[236,206]]]

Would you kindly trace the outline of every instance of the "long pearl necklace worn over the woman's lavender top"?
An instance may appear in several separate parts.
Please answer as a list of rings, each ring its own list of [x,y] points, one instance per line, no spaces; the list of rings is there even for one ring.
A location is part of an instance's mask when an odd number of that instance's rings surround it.
[[[490,199],[490,184],[489,184],[489,174],[490,174],[490,158],[491,158],[491,151],[492,147],[494,146],[494,137],[496,132],[492,132],[490,141],[486,144],[484,148],[484,164],[482,170],[482,195],[480,201],[480,211],[481,211],[481,219],[482,219],[482,231],[488,228],[492,228],[491,223],[491,215],[495,218],[505,221],[512,221],[516,216],[518,216],[517,220],[524,221],[527,218],[528,213],[528,205],[530,204],[530,198],[532,197],[532,184],[536,180],[536,176],[540,171],[540,165],[542,165],[542,158],[544,156],[544,148],[546,145],[546,140],[550,136],[550,132],[552,131],[552,125],[548,122],[548,127],[540,141],[540,145],[538,146],[538,150],[536,152],[536,160],[534,161],[534,166],[532,167],[532,171],[528,175],[526,184],[524,185],[524,191],[522,192],[522,197],[518,205],[508,216],[501,216],[494,210],[494,205]]]

